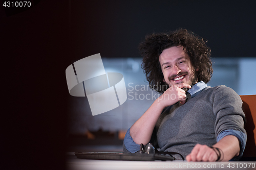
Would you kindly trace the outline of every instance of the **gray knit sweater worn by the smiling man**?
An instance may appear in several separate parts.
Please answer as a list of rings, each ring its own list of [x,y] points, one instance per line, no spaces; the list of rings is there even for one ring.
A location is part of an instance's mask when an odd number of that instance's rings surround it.
[[[224,130],[244,130],[240,96],[226,86],[206,87],[184,105],[167,107],[160,115],[151,143],[160,151],[187,156],[197,143],[214,145]],[[124,149],[125,150],[125,149]],[[181,159],[179,155],[174,155]]]

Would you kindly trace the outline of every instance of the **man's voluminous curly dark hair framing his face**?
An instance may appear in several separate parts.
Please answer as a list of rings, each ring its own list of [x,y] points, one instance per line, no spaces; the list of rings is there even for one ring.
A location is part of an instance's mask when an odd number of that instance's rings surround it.
[[[184,52],[188,54],[198,82],[207,83],[212,76],[213,69],[210,60],[211,50],[206,46],[206,42],[186,29],[146,35],[145,41],[139,44],[139,50],[143,56],[141,68],[150,87],[159,93],[163,93],[169,87],[163,82],[159,56],[166,48],[179,45],[182,45]],[[195,68],[198,71],[195,71]]]

